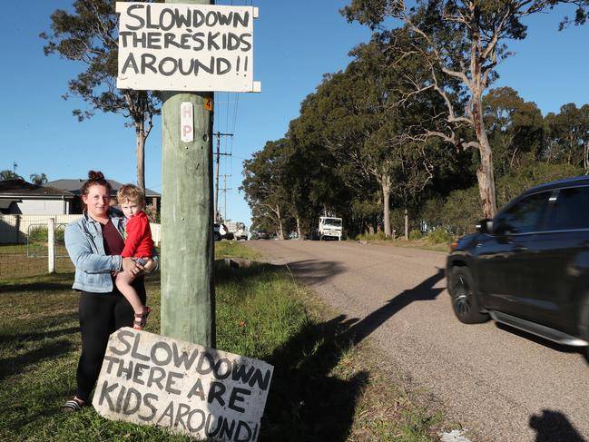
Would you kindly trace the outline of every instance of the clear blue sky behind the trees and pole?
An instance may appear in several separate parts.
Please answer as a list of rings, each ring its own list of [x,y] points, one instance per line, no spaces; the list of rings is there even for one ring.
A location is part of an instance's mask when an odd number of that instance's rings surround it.
[[[250,225],[250,208],[239,191],[242,162],[268,141],[277,140],[299,116],[300,103],[315,91],[323,74],[345,69],[348,51],[370,38],[368,28],[348,24],[339,10],[346,0],[242,0],[217,5],[254,5],[254,80],[261,93],[216,93],[214,132],[221,137],[219,209],[226,219]],[[73,0],[6,2],[0,15],[0,170],[13,169],[26,180],[45,173],[49,181],[85,178],[91,169],[118,182],[136,182],[135,134],[121,114],[96,113],[78,123],[72,115],[85,103],[65,101],[68,80],[82,64],[44,56],[44,41],[55,9],[72,10]],[[565,103],[589,103],[589,25],[558,32],[570,8],[527,17],[527,38],[506,42],[515,54],[499,65],[494,87],[514,88],[542,113],[558,113]],[[216,142],[216,141],[215,141]],[[145,147],[145,183],[162,191],[161,119]],[[223,185],[223,175],[226,186]],[[225,196],[226,195],[226,196]]]

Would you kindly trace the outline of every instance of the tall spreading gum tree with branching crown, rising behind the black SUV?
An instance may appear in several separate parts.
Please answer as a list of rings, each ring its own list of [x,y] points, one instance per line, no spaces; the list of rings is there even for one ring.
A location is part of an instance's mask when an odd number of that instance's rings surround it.
[[[425,81],[407,74],[407,84],[412,86],[407,97],[424,91],[439,93],[447,105],[447,125],[443,130],[427,130],[427,135],[463,149],[477,149],[480,163],[476,177],[486,217],[496,212],[496,189],[483,96],[497,77],[497,64],[510,55],[506,40],[525,38],[522,19],[559,3],[576,5],[574,21],[584,23],[589,0],[417,0],[411,7],[404,0],[351,0],[342,11],[349,21],[357,20],[373,29],[388,24],[388,18],[403,24],[414,44],[408,51],[398,48],[398,58],[419,54],[424,69],[430,72]],[[459,83],[466,106],[456,106],[444,77]],[[456,133],[464,126],[472,130],[472,137],[464,139]]]

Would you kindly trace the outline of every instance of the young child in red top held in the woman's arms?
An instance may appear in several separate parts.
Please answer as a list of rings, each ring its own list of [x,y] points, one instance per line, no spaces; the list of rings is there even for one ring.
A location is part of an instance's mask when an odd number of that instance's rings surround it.
[[[149,220],[143,211],[145,200],[142,191],[133,184],[124,184],[116,193],[116,197],[127,219],[126,238],[121,256],[132,257],[144,266],[153,256],[153,240]],[[135,275],[130,271],[121,271],[116,275],[115,281],[117,289],[123,293],[135,312],[133,329],[141,330],[152,309],[142,304],[137,291],[131,285],[134,279]]]

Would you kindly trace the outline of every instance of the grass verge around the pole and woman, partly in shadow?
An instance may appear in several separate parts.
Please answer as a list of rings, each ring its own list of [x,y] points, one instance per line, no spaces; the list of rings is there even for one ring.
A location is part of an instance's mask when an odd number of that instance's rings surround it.
[[[250,257],[222,241],[217,257]],[[219,243],[217,243],[219,244]],[[75,388],[80,350],[73,275],[5,280],[0,286],[0,440],[189,441],[158,427],[100,417],[93,408],[62,414]],[[352,325],[326,314],[313,294],[280,267],[254,264],[215,274],[217,348],[274,366],[259,440],[436,440],[441,417],[417,407],[378,369]],[[160,329],[160,281],[146,277]]]

